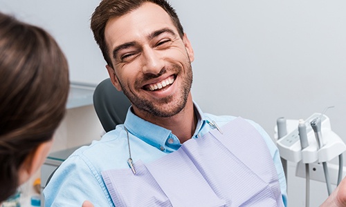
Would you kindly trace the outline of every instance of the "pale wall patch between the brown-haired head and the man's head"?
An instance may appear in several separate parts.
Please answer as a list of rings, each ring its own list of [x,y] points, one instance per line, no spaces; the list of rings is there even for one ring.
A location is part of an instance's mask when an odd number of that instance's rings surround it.
[[[71,81],[99,83],[107,70],[90,30],[99,0],[0,0],[0,11],[51,32],[69,61]]]

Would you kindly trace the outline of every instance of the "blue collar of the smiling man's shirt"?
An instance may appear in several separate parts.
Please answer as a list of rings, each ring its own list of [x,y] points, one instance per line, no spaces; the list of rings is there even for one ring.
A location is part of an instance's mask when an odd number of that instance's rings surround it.
[[[197,138],[201,129],[206,125],[206,117],[195,102],[194,112],[197,115],[197,127],[192,138]],[[124,125],[132,135],[160,150],[170,152],[177,150],[181,146],[178,138],[172,134],[171,130],[152,124],[134,115],[132,106],[127,111]],[[173,140],[174,143],[170,143],[168,139],[170,139],[170,141]]]

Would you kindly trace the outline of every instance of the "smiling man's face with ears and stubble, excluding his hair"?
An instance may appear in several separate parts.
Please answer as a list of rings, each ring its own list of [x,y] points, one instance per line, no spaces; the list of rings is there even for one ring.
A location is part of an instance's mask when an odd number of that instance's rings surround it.
[[[136,115],[172,117],[185,107],[194,54],[165,10],[145,3],[110,19],[104,36],[113,63],[113,68],[107,66],[109,76],[127,95]]]

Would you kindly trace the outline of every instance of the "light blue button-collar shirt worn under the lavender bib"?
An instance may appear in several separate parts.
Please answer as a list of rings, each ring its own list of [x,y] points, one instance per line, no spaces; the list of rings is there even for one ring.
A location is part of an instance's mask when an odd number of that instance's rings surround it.
[[[205,114],[196,103],[194,107],[198,119],[197,128],[192,136],[194,139],[212,130],[207,121],[215,121],[217,126],[221,127],[236,118]],[[277,147],[262,127],[248,121],[266,141],[280,179],[282,199],[286,206],[286,180]],[[130,108],[125,124],[116,126],[115,130],[108,132],[100,141],[93,141],[90,146],[76,150],[57,169],[44,189],[45,206],[82,206],[84,200],[91,201],[95,206],[114,206],[101,172],[129,168],[129,145],[124,126],[129,130],[129,144],[134,163],[138,160],[144,163],[154,161],[181,146],[178,137],[170,130],[140,119]]]

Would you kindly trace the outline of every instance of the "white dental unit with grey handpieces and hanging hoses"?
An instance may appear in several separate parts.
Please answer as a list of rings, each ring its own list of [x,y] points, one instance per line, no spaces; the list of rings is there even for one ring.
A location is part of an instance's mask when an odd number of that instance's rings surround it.
[[[305,165],[306,206],[309,206],[310,194],[309,164],[322,163],[328,195],[331,194],[332,189],[327,161],[338,157],[338,180],[336,185],[340,184],[343,177],[343,152],[346,151],[346,145],[331,130],[329,117],[325,115],[327,109],[322,113],[314,113],[305,121],[303,119],[293,120],[280,117],[277,119],[275,126],[276,144],[282,157],[285,175],[287,175],[286,161],[297,163],[296,174],[298,174],[298,166]]]

